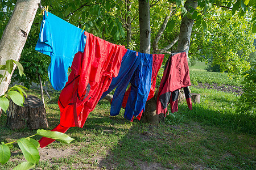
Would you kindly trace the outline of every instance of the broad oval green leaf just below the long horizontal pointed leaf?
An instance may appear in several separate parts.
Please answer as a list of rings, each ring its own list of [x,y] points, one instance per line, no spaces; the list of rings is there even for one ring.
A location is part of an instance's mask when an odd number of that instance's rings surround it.
[[[19,148],[22,150],[22,153],[25,157],[25,159],[30,163],[38,163],[40,156],[39,151],[35,147],[33,143],[28,141],[28,139],[19,139],[18,141]]]

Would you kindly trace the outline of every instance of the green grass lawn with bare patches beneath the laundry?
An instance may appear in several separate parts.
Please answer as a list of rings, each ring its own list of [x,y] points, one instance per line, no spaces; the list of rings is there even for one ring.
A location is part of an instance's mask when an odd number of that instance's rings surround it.
[[[205,83],[237,84],[226,74],[191,69],[191,78]],[[202,73],[202,74],[200,74]],[[203,74],[206,73],[206,74]],[[195,74],[195,75],[194,75]],[[69,145],[52,143],[40,149],[40,162],[34,169],[255,169],[255,116],[236,114],[237,94],[191,87],[201,94],[200,104],[179,104],[164,124],[143,124],[109,116],[110,103],[102,100],[89,114],[84,128],[70,128],[75,138]],[[39,91],[28,94],[40,97]],[[49,129],[59,124],[59,94],[45,98]],[[35,134],[28,129],[5,128],[6,114],[0,117],[0,141]],[[36,137],[35,139],[39,139]],[[12,162],[0,165],[11,169],[23,162],[17,145]]]

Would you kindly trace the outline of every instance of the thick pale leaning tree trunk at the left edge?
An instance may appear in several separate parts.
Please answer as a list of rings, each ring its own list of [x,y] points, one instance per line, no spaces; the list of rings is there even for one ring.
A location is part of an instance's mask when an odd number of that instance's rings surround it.
[[[8,59],[19,61],[39,3],[40,0],[18,0],[16,2],[13,14],[0,41],[0,65],[5,65]],[[0,71],[3,73],[2,70]],[[5,94],[12,74],[7,73],[6,79],[0,84],[0,96]]]

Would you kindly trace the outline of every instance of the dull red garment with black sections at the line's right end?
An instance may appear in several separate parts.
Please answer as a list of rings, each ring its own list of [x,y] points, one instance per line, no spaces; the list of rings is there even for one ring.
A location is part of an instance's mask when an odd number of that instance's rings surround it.
[[[177,97],[180,88],[184,88],[188,108],[192,110],[191,95],[188,90],[191,86],[186,52],[172,54],[164,68],[163,78],[160,83],[156,113],[168,113],[167,106],[171,103],[171,112],[177,112]]]

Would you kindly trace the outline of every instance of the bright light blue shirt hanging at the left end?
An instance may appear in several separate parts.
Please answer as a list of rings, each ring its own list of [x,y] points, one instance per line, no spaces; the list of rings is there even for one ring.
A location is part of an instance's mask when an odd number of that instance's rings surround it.
[[[68,81],[68,67],[77,52],[84,52],[86,36],[82,29],[48,12],[41,23],[35,50],[51,57],[49,80],[55,90]]]

